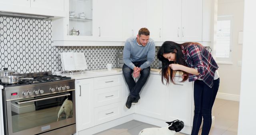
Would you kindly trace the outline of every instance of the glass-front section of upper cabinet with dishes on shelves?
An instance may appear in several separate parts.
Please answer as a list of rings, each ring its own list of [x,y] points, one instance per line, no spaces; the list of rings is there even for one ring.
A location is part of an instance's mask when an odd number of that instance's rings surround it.
[[[92,36],[92,0],[69,0],[69,35]]]

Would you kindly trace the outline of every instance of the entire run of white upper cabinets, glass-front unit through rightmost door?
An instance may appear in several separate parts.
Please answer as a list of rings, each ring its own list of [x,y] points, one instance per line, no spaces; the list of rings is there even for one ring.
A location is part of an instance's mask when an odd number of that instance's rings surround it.
[[[66,17],[52,20],[53,45],[122,46],[143,27],[157,46],[167,40],[211,42],[210,1],[69,0],[64,4]]]

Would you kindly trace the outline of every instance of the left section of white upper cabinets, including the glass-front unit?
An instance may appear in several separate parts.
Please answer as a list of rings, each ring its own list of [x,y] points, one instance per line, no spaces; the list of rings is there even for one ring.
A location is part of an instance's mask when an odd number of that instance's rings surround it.
[[[54,46],[119,46],[122,0],[69,0],[66,18],[52,20]]]

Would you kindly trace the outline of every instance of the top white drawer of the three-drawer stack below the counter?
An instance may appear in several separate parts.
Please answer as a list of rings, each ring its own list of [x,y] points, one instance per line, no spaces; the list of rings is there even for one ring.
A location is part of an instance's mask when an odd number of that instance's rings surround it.
[[[105,87],[112,87],[122,85],[122,75],[110,75],[104,77],[94,78],[94,89],[101,89]]]

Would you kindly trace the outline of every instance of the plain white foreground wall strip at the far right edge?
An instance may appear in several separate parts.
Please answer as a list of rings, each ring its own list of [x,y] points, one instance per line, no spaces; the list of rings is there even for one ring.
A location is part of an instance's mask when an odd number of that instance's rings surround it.
[[[256,135],[256,1],[244,0],[244,44],[238,135]]]

